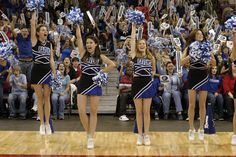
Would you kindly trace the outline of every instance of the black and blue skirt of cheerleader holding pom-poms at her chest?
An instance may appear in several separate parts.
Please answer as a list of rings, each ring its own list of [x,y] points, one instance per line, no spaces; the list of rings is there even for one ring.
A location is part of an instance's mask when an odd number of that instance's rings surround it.
[[[209,75],[208,70],[189,69],[188,73],[188,89],[208,91]]]

